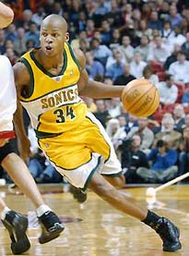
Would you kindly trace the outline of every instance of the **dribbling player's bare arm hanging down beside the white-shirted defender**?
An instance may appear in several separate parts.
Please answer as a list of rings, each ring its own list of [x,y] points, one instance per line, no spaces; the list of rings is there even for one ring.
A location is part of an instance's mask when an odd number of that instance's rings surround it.
[[[28,160],[28,156],[30,154],[30,140],[27,137],[25,128],[24,128],[24,121],[23,121],[23,108],[20,104],[19,97],[21,91],[27,87],[30,84],[30,74],[27,69],[27,67],[22,64],[21,62],[18,62],[14,67],[14,75],[15,75],[15,84],[17,89],[17,95],[18,95],[18,106],[17,111],[14,115],[14,125],[15,125],[15,131],[18,138],[18,151],[20,153],[21,158],[24,161]]]

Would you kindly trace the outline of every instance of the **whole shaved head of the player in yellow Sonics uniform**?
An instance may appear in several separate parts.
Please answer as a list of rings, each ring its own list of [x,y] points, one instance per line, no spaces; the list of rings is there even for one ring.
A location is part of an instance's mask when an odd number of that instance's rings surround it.
[[[65,42],[69,40],[67,22],[60,15],[52,14],[43,19],[41,23],[41,50],[45,55],[60,54]]]

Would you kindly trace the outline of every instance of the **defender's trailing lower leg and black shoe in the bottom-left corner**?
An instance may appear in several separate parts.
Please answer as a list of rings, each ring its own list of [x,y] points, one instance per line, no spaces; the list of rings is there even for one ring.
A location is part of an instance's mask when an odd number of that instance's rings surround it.
[[[20,254],[30,249],[30,241],[26,231],[28,219],[20,213],[10,210],[5,201],[0,198],[0,216],[6,226],[11,239],[11,250],[14,254]]]

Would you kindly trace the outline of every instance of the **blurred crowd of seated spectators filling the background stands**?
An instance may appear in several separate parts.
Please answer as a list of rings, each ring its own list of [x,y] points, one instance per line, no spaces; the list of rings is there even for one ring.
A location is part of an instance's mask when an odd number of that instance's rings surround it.
[[[83,99],[111,137],[127,183],[164,183],[188,171],[189,1],[3,2],[16,14],[14,22],[0,30],[0,54],[12,65],[40,46],[41,21],[53,13],[66,19],[69,43],[86,55],[89,79],[124,86],[144,77],[159,88],[159,109],[148,118],[130,116],[119,98]],[[39,151],[27,115],[25,119],[31,175],[39,183],[62,182]]]

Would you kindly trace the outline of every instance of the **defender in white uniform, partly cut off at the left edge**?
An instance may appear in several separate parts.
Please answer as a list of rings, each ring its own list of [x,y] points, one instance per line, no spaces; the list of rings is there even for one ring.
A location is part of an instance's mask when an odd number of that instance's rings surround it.
[[[14,18],[13,11],[0,3],[0,28],[5,28]],[[64,229],[59,218],[44,204],[37,186],[30,176],[24,162],[15,153],[8,141],[14,137],[13,114],[17,107],[13,68],[4,55],[0,55],[0,165],[18,187],[30,198],[37,208],[37,215],[42,226],[41,243],[46,243],[59,236]],[[11,238],[11,250],[20,254],[30,249],[30,241],[26,235],[28,219],[20,213],[11,211],[0,199],[0,216]]]

